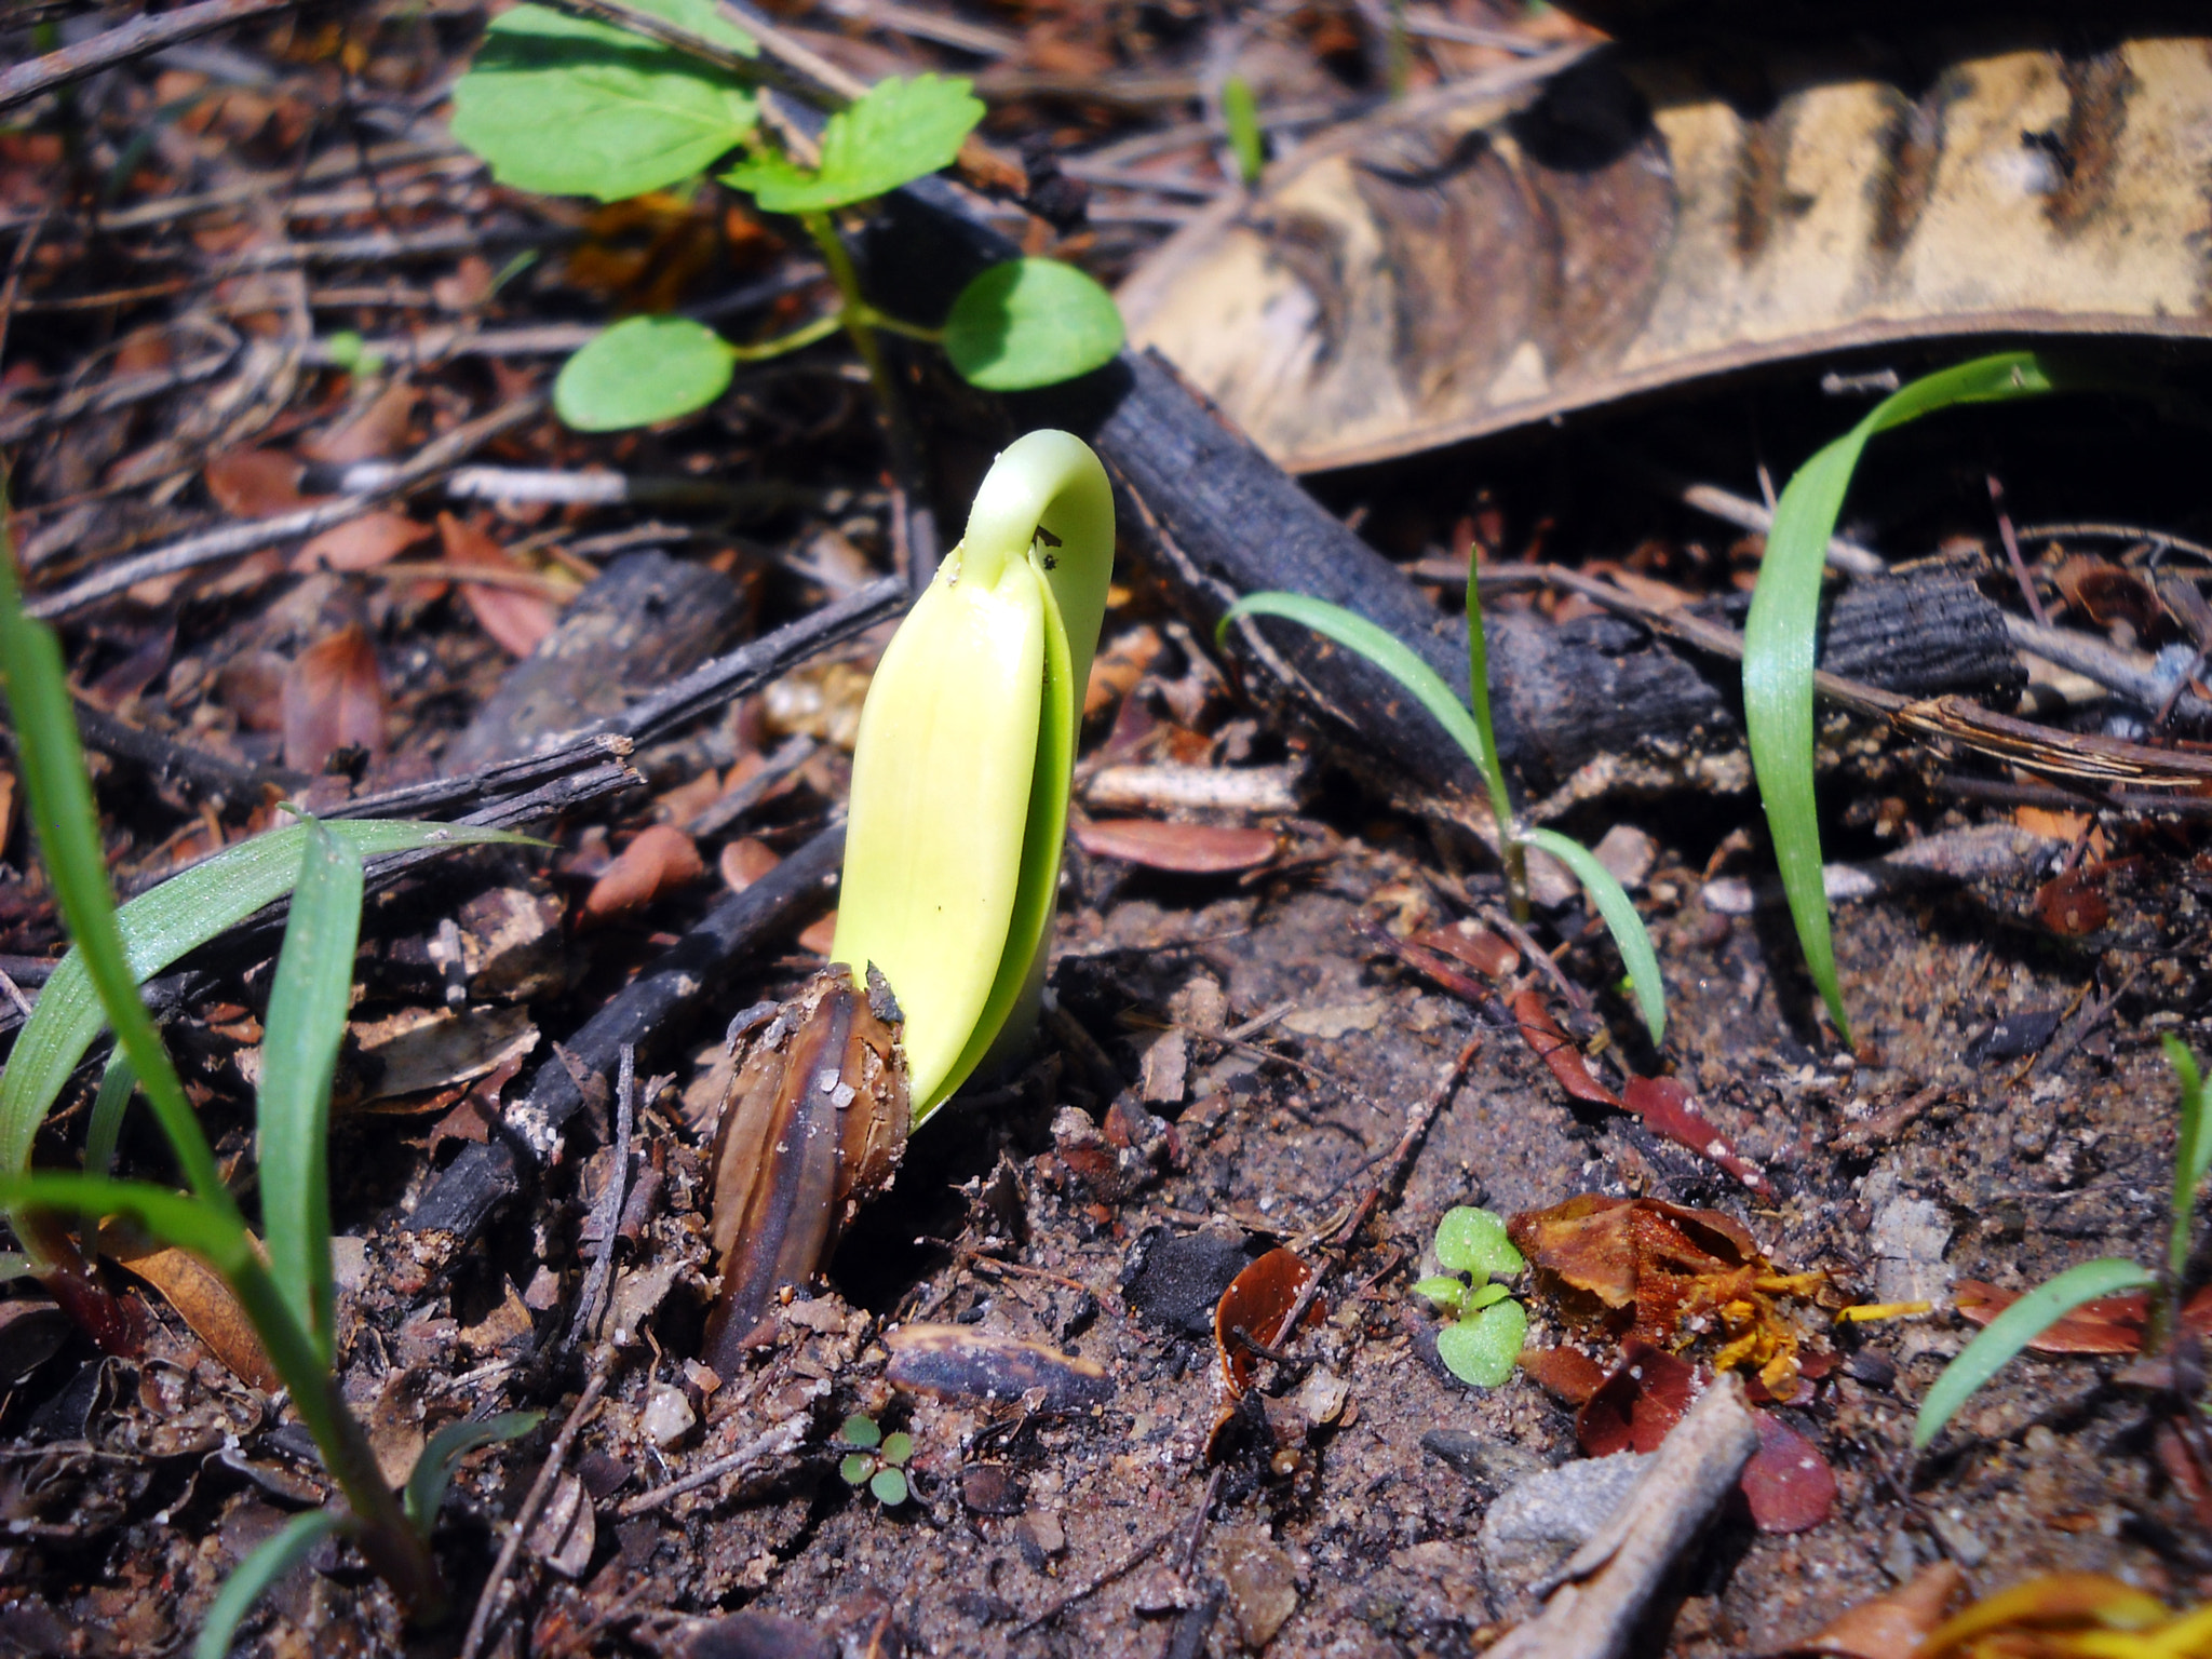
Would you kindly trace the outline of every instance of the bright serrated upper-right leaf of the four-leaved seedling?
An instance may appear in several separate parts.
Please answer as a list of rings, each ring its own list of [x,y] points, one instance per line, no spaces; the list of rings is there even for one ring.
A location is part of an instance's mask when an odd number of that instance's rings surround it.
[[[763,155],[739,161],[721,181],[768,212],[849,208],[951,166],[982,117],[982,102],[958,75],[891,75],[830,117],[818,168]]]

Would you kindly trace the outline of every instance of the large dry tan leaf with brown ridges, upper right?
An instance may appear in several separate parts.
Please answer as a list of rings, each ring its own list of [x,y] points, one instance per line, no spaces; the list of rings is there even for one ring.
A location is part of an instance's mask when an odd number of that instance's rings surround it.
[[[1303,146],[1121,307],[1301,471],[1849,345],[2208,336],[2212,55],[2070,40],[1993,15],[1462,84]]]

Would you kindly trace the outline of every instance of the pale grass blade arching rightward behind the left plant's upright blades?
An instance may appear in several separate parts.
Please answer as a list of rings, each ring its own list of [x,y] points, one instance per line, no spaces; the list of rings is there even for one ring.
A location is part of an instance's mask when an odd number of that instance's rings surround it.
[[[526,845],[524,836],[504,830],[458,823],[343,818],[327,827],[363,858],[438,845]],[[150,980],[186,951],[283,898],[299,874],[305,843],[305,825],[270,830],[177,872],[115,911],[131,975],[137,982]],[[0,1172],[27,1168],[38,1126],[104,1024],[84,958],[71,949],[40,991],[38,1006],[15,1035],[7,1071],[0,1073]]]

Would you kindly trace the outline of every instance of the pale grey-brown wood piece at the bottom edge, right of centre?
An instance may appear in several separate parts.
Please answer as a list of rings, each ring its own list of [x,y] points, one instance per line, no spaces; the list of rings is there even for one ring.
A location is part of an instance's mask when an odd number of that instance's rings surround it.
[[[1674,1425],[1613,1517],[1553,1575],[1544,1610],[1493,1659],[1619,1659],[1674,1562],[1759,1451],[1759,1420],[1734,1371]]]

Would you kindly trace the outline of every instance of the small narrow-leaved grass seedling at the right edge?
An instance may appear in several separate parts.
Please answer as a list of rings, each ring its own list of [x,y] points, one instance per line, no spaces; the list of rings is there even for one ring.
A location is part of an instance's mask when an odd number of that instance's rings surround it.
[[[2181,1124],[2174,1135],[2172,1221],[2166,1237],[2166,1270],[2152,1272],[2124,1256],[2099,1256],[2044,1281],[2017,1303],[1984,1325],[1960,1356],[1951,1360],[1920,1402],[1913,1422],[1913,1449],[1927,1447],[1944,1425],[1989,1378],[2002,1371],[2028,1343],[2051,1329],[2081,1303],[2150,1290],[2150,1327],[2146,1349],[2163,1347],[2174,1334],[2181,1307],[2181,1274],[2190,1261],[2190,1225],[2197,1217],[2197,1192],[2212,1170],[2212,1102],[2205,1099],[2203,1071],[2197,1055],[2179,1037],[2166,1037],[2166,1060],[2181,1086]]]

